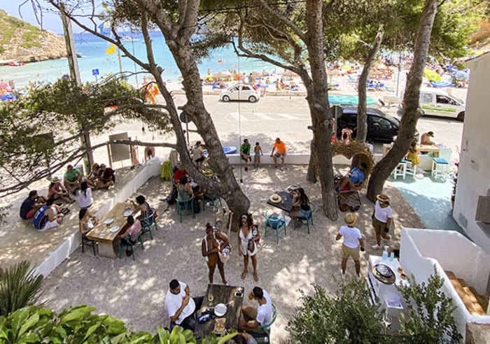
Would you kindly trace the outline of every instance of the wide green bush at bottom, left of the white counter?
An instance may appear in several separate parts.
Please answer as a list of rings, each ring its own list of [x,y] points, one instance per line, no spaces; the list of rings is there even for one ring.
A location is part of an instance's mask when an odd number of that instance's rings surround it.
[[[301,305],[286,330],[291,343],[386,343],[379,305],[371,304],[363,280],[339,282],[338,296],[314,285],[314,296],[300,291]]]

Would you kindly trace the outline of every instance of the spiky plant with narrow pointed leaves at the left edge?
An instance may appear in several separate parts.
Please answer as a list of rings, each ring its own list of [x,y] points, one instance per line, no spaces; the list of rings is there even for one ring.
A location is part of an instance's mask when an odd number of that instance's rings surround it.
[[[29,261],[0,268],[0,315],[34,305],[41,296],[43,275],[34,275]]]

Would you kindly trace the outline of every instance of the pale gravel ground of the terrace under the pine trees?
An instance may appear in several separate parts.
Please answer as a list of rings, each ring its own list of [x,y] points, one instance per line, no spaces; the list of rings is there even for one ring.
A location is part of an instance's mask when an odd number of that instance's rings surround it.
[[[342,213],[337,222],[331,222],[317,209],[309,235],[306,227],[294,230],[293,224],[289,224],[287,235],[281,237],[279,244],[275,236],[264,238],[262,213],[275,209],[266,204],[275,191],[293,183],[300,184],[312,203],[317,208],[320,206],[318,186],[304,181],[305,172],[305,166],[287,166],[285,171],[265,166],[245,173],[242,189],[251,199],[251,213],[262,236],[258,251],[259,281],[253,281],[251,266],[245,280],[240,279],[243,260],[236,250],[236,232],[232,232],[231,238],[234,252],[225,264],[230,285],[243,286],[246,292],[258,285],[271,294],[279,312],[272,327],[272,343],[287,337],[285,327],[297,306],[298,290],[311,292],[311,283],[316,283],[333,294],[334,276],[339,276],[341,244],[335,241],[335,235],[344,224]],[[60,310],[70,305],[89,304],[97,308],[97,313],[108,313],[124,320],[133,331],[155,333],[157,326],[169,325],[164,299],[170,280],[177,278],[188,283],[191,296],[204,294],[208,279],[201,241],[205,224],[214,222],[214,213],[206,208],[195,219],[185,217],[180,223],[174,206],[165,211],[167,203],[160,201],[170,187],[169,182],[153,178],[138,192],[147,196],[151,206],[158,208],[159,230],[153,241],[146,239],[144,250],[137,248],[136,261],[130,257],[116,260],[94,257],[91,250],[83,254],[78,248],[45,279],[43,300],[48,301],[48,306]],[[423,224],[395,187],[388,183],[385,190],[391,196],[395,219],[395,235],[388,244],[398,247],[401,227],[423,227]],[[368,255],[380,255],[381,251],[371,248],[374,244],[370,225],[373,205],[365,196],[361,199],[358,227],[366,242],[366,252],[361,255],[361,273],[365,275]],[[354,275],[353,261],[349,261],[347,278]],[[218,271],[215,282],[221,282]],[[244,300],[244,304],[251,303]]]

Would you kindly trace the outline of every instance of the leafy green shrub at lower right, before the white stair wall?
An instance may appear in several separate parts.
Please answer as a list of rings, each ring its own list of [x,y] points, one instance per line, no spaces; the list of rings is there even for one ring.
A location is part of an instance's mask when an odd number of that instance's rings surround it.
[[[442,292],[443,278],[434,273],[428,282],[417,283],[414,276],[409,286],[400,287],[407,304],[408,315],[402,314],[400,334],[405,343],[459,343],[462,336],[456,328],[453,312],[456,309],[451,298]]]

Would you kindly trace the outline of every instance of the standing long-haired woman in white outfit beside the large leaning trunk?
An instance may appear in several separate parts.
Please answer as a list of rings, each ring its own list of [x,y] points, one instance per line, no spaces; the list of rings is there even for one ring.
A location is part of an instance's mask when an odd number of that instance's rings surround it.
[[[239,255],[244,257],[244,271],[241,273],[241,279],[244,280],[248,272],[248,257],[252,259],[253,280],[258,281],[257,275],[257,243],[260,239],[258,229],[253,226],[253,220],[248,214],[240,216],[240,225],[238,230]]]

